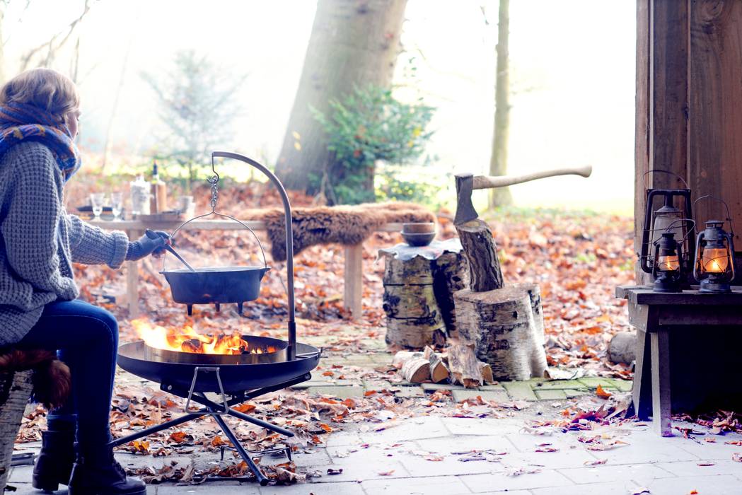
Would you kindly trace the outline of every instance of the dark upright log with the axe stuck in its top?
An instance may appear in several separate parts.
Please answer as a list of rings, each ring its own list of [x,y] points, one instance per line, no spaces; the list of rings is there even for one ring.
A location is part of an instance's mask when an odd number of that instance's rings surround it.
[[[504,285],[502,269],[497,258],[497,244],[490,226],[476,218],[456,226],[464,253],[469,260],[469,288],[472,292],[499,289]]]

